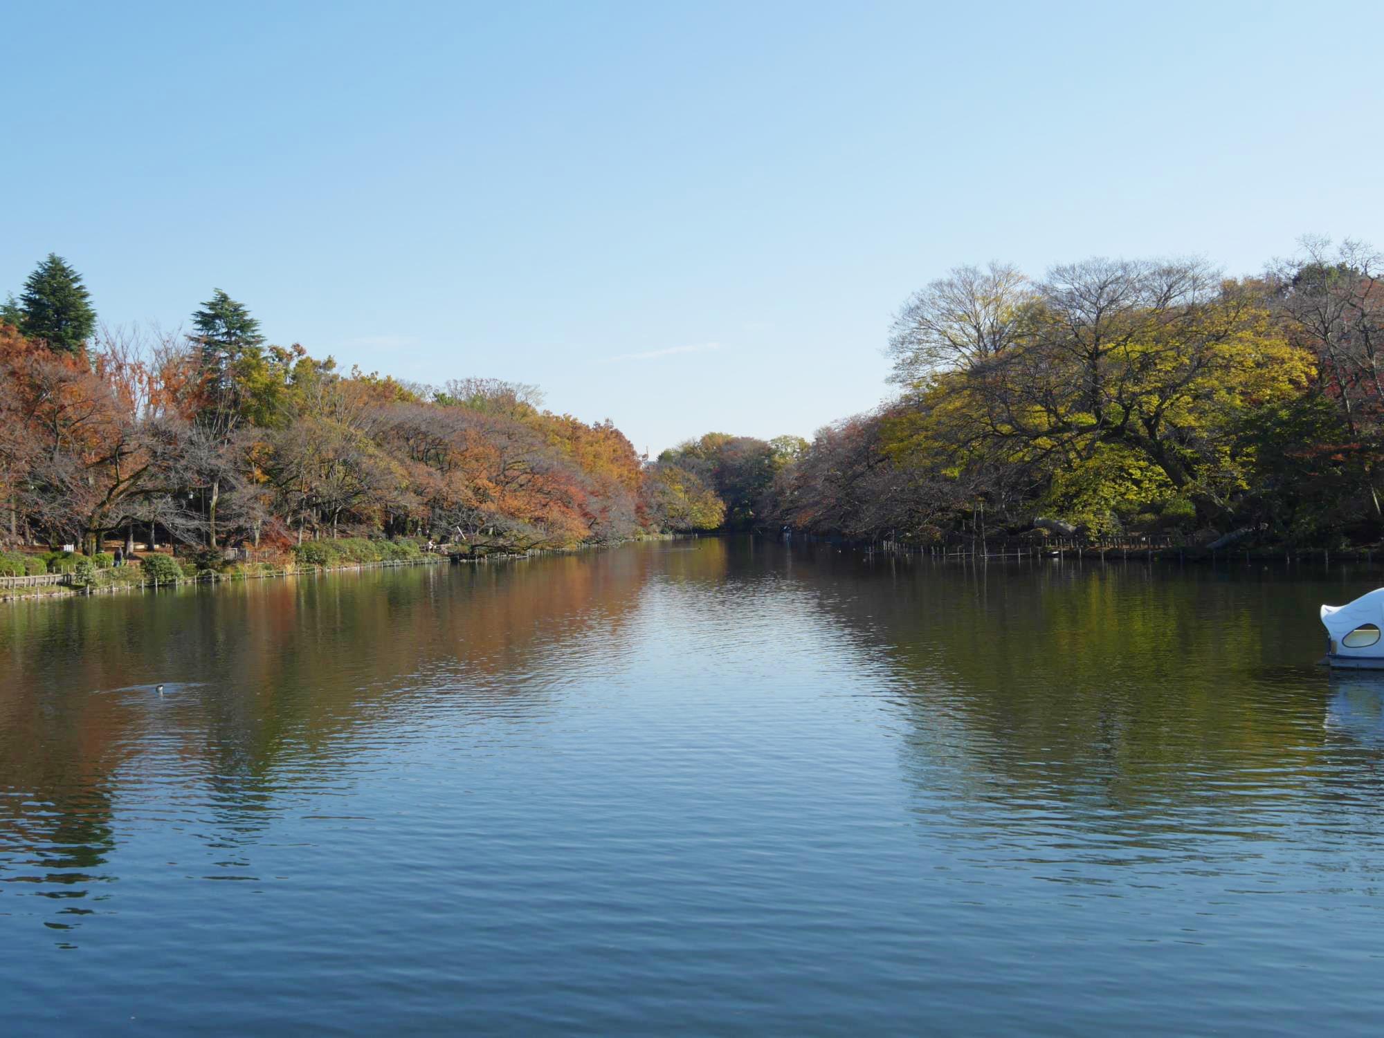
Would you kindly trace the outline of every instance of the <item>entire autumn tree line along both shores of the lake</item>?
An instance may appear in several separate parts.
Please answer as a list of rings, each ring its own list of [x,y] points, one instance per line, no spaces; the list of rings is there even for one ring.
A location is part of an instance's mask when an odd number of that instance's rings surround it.
[[[958,267],[894,316],[897,393],[875,411],[650,461],[530,385],[340,372],[220,289],[187,334],[111,328],[50,255],[0,307],[0,576],[116,549],[152,576],[749,529],[1374,545],[1381,268],[1324,239],[1239,278],[1194,259]]]

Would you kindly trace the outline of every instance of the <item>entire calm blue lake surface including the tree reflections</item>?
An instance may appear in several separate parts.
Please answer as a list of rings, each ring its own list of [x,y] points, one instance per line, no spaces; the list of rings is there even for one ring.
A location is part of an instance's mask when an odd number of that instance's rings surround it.
[[[702,540],[3,606],[0,1032],[1374,1034],[1384,695],[1312,664],[1377,584]]]

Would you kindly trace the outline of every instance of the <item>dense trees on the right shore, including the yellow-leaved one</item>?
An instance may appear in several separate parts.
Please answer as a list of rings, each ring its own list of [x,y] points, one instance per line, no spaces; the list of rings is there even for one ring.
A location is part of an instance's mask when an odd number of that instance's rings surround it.
[[[923,544],[1046,529],[1380,540],[1378,255],[1306,241],[1258,278],[1086,260],[962,267],[909,298],[901,394],[801,450],[720,435],[664,455],[732,523]],[[732,447],[734,444],[734,447]]]

